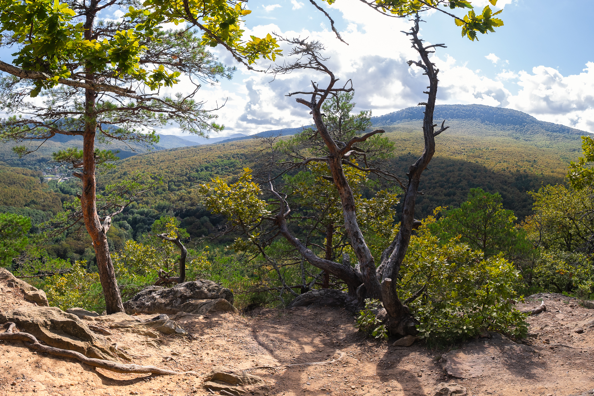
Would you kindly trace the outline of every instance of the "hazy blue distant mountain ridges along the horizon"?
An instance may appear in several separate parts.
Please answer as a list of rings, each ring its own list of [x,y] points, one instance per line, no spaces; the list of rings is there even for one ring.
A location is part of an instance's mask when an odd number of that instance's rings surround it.
[[[424,107],[422,106],[409,107],[386,115],[372,117],[371,121],[374,127],[386,127],[386,131],[394,130],[394,128],[417,128],[420,127],[419,121],[423,119],[423,111]],[[574,143],[573,140],[577,142],[580,140],[580,136],[587,134],[584,131],[565,127],[564,125],[536,120],[536,118],[521,111],[484,105],[438,105],[435,106],[434,120],[435,123],[441,120],[446,120],[446,124],[452,122],[453,127],[447,131],[448,134],[467,134],[469,131],[467,127],[455,127],[459,122],[463,121],[466,125],[474,125],[473,134],[497,137],[506,136],[515,140],[530,141],[532,143],[540,142],[545,145],[550,145],[551,142],[566,144],[568,143],[567,139],[569,139],[572,141],[572,145],[577,144],[577,147],[579,147],[579,143]],[[118,156],[124,159],[149,151],[177,149],[201,144],[228,143],[278,134],[289,136],[299,133],[308,127],[311,127],[311,125],[263,131],[250,136],[242,133],[236,133],[230,136],[213,136],[210,139],[200,136],[160,135],[159,143],[153,147],[147,147],[140,143],[117,141],[112,144],[97,144],[97,147],[100,149],[119,150]],[[35,143],[29,143],[31,149],[35,148]],[[34,163],[51,161],[52,153],[58,150],[73,146],[82,148],[83,139],[80,136],[56,135],[44,143],[36,152],[27,155],[23,159],[18,159],[12,152],[12,146],[14,144],[0,144],[0,161],[4,161],[12,166],[34,165]]]

